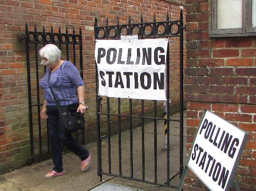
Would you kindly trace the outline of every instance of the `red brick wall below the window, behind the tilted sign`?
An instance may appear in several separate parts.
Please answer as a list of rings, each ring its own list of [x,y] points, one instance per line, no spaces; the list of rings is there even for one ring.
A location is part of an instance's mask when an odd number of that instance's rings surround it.
[[[241,190],[256,189],[256,37],[209,38],[208,0],[186,0],[185,99],[187,151],[203,109],[249,133],[236,177]],[[190,172],[190,175],[192,173]],[[203,184],[188,176],[188,185]],[[200,190],[186,187],[186,190]]]

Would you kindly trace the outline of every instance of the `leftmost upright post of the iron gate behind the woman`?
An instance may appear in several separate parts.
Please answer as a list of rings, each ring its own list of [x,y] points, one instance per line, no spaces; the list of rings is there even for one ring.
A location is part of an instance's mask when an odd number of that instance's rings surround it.
[[[29,59],[29,35],[26,24],[26,72],[27,72],[27,93],[28,93],[28,110],[29,110],[29,128],[30,128],[30,152],[34,157],[34,136],[33,136],[33,118],[31,103],[31,78],[30,78],[30,59]]]

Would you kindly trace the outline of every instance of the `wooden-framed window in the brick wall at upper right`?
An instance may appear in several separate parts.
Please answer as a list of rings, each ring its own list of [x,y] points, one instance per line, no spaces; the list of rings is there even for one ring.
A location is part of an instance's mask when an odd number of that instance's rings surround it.
[[[256,0],[210,0],[209,36],[256,36]]]

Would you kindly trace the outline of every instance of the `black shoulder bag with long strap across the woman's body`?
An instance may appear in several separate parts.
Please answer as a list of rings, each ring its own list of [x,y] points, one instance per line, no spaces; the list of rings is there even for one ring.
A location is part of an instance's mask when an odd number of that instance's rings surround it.
[[[50,85],[50,76],[51,76],[51,70],[49,71],[49,88],[51,90],[51,93],[53,94],[53,98],[57,105],[57,110],[59,114],[59,124],[62,128],[62,131],[64,133],[70,133],[77,131],[79,129],[84,128],[84,115],[82,115],[80,112],[76,112],[77,108],[67,108],[63,107],[59,104],[57,101],[57,98],[55,94],[53,93],[53,89]]]

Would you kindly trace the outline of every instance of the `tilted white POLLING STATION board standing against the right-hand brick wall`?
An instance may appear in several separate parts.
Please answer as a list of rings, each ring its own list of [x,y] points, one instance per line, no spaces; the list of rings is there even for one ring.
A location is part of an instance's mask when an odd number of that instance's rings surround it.
[[[188,166],[210,190],[227,190],[246,136],[246,132],[206,111],[194,139]]]

